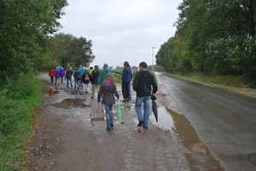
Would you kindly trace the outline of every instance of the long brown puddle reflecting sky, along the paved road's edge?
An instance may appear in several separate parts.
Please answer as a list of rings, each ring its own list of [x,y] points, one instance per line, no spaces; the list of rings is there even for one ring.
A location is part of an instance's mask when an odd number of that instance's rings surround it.
[[[175,111],[165,107],[158,107],[158,123],[156,123],[154,114],[150,116],[153,124],[164,130],[170,130],[171,133],[174,132],[173,138],[177,138],[189,151],[192,153],[187,153],[187,161],[189,162],[191,170],[198,170],[198,165],[202,164],[201,157],[205,159],[204,165],[206,167],[214,168],[214,170],[223,170],[220,167],[218,160],[216,160],[212,154],[209,152],[207,146],[201,142],[197,136],[195,129],[190,125],[189,121],[183,117],[183,115],[178,114]]]

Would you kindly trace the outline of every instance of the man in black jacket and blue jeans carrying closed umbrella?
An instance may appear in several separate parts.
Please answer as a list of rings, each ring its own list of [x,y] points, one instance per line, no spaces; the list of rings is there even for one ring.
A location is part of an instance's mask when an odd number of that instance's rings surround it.
[[[147,63],[141,62],[139,64],[139,72],[137,72],[132,83],[133,89],[136,91],[135,109],[138,117],[138,127],[148,128],[149,107],[151,94],[157,91],[157,84],[154,80],[153,74],[147,70]],[[152,89],[153,87],[153,89]],[[151,92],[152,89],[152,92]],[[143,104],[144,113],[142,113],[141,106]]]

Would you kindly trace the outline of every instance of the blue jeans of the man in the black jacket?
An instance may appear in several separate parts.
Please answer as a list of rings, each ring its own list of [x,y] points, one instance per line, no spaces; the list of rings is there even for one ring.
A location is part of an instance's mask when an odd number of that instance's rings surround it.
[[[142,104],[144,108],[144,115],[141,110]],[[137,111],[137,118],[138,118],[138,121],[144,122],[143,123],[144,127],[148,127],[149,107],[150,107],[150,96],[136,97],[135,109]]]

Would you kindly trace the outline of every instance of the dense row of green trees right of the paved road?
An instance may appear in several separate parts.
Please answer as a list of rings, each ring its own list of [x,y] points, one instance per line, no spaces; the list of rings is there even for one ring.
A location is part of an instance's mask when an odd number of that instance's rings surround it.
[[[183,0],[177,31],[155,55],[168,72],[241,76],[256,87],[256,2]]]

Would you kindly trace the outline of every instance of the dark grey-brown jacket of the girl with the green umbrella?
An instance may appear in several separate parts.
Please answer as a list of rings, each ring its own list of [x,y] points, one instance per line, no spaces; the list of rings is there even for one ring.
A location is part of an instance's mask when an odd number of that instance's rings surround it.
[[[103,95],[103,97],[102,97]],[[102,104],[113,105],[115,104],[114,96],[119,99],[119,93],[114,83],[102,83],[98,92],[97,101],[100,102],[102,98]]]

